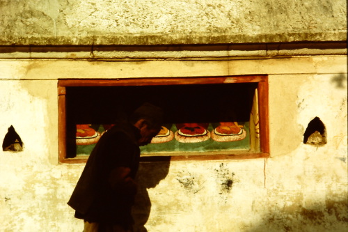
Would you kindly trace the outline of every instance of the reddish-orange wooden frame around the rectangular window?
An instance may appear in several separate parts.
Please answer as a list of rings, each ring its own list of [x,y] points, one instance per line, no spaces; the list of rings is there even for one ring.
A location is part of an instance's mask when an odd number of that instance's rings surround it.
[[[232,84],[258,83],[258,114],[260,128],[260,152],[219,153],[146,156],[141,161],[156,160],[243,160],[269,157],[269,90],[267,75],[218,76],[218,77],[152,77],[125,79],[61,79],[58,80],[58,161],[61,163],[84,163],[88,157],[66,158],[66,87],[72,86],[165,86],[182,84]]]

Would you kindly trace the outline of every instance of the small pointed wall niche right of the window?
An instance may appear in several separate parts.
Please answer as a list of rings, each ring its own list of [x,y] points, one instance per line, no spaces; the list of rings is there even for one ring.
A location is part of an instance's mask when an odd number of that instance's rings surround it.
[[[307,129],[303,134],[303,144],[323,146],[326,141],[326,128],[320,118],[315,117],[308,123]]]

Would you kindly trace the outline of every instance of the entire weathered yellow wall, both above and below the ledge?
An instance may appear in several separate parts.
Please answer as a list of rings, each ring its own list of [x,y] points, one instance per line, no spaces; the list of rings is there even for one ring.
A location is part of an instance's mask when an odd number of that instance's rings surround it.
[[[271,157],[143,163],[136,223],[348,230],[346,1],[0,0],[0,13],[0,141],[10,125],[24,141],[0,150],[0,231],[82,231],[66,202],[84,164],[58,164],[58,79],[253,74],[269,75]],[[303,144],[315,116],[320,147]]]

